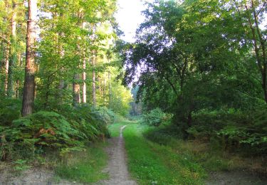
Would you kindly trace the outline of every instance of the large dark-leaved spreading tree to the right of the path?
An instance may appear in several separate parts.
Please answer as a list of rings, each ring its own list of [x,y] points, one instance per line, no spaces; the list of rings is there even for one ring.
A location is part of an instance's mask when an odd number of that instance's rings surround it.
[[[184,130],[192,112],[246,109],[263,100],[251,46],[242,43],[246,33],[233,26],[239,19],[226,7],[225,1],[155,1],[144,11],[137,41],[121,50],[125,83],[140,73],[137,97],[148,110],[173,113]]]

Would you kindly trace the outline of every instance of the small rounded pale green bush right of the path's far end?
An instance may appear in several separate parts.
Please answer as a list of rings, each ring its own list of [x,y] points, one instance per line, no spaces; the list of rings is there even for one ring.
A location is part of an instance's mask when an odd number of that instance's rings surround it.
[[[165,114],[161,109],[150,110],[147,114],[142,115],[142,124],[149,126],[169,125],[172,115]]]

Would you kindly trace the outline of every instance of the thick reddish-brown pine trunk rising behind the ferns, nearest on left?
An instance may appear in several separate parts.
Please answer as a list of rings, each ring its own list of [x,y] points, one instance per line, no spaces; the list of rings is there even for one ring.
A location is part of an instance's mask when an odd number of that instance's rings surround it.
[[[27,21],[27,38],[26,38],[26,66],[25,80],[23,87],[23,100],[21,115],[24,117],[33,112],[35,83],[34,75],[36,74],[35,63],[35,42],[36,42],[36,18],[37,18],[37,0],[28,0],[28,21]]]

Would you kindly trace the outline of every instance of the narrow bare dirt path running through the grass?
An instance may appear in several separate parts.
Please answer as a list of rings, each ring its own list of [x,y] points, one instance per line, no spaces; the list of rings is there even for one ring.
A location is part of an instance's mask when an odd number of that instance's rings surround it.
[[[110,146],[107,148],[107,152],[110,157],[110,160],[108,163],[108,167],[104,169],[104,172],[110,174],[110,179],[108,181],[102,181],[100,184],[137,184],[135,181],[130,179],[127,170],[126,154],[122,137],[122,130],[125,127],[126,125],[120,128],[120,137],[113,137],[109,140]]]

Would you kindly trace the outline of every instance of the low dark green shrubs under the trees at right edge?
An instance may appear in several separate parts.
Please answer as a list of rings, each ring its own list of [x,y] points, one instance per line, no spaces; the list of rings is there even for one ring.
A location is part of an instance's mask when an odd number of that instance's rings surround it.
[[[187,129],[189,138],[218,140],[223,149],[253,154],[267,152],[266,107],[241,112],[239,110],[202,110],[193,115],[193,126]]]

